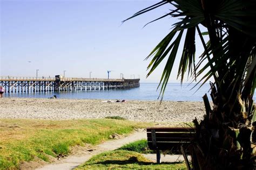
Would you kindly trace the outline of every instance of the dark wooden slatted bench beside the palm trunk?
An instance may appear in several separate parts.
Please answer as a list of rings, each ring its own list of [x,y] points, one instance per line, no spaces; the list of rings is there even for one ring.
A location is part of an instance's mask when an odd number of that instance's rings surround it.
[[[173,154],[188,153],[186,148],[194,138],[193,128],[147,128],[147,144],[157,151],[157,163],[160,164],[160,151],[170,150]]]

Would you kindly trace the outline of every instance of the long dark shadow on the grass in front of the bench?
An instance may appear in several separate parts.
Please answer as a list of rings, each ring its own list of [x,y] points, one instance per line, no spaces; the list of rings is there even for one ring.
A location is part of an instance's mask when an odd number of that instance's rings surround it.
[[[181,162],[163,162],[161,165],[171,165],[171,164],[180,164]],[[102,164],[102,165],[126,165],[126,164],[138,164],[138,165],[159,165],[154,162],[144,162],[144,161],[139,161],[137,157],[131,157],[130,159],[127,160],[105,160],[105,161],[98,161],[93,164]],[[93,164],[87,164],[87,165],[93,165]]]

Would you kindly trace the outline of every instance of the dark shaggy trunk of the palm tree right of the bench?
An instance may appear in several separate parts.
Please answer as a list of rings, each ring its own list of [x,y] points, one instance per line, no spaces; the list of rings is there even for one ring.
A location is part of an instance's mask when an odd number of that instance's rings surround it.
[[[206,3],[203,9],[208,8]],[[211,40],[211,49],[222,50],[219,46],[214,18],[205,16],[206,27]],[[211,98],[213,109],[210,107],[207,96],[203,97],[206,116],[200,123],[194,120],[197,137],[192,143],[192,164],[194,169],[254,169],[255,154],[251,139],[253,129],[251,119],[254,113],[252,90],[241,89],[241,73],[247,65],[246,58],[250,54],[252,44],[248,38],[239,31],[229,28],[231,59],[235,59],[234,65],[229,70],[224,70],[226,63],[219,67],[217,85],[211,83]],[[213,50],[213,58],[219,51]],[[255,69],[254,69],[255,72]],[[224,74],[226,73],[226,74]],[[255,73],[254,73],[255,76]],[[254,78],[250,80],[248,87],[253,87]],[[253,134],[253,137],[256,134]]]

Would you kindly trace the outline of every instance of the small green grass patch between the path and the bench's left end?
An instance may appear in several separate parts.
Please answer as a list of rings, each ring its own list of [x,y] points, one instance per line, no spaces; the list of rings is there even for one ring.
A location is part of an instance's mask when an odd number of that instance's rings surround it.
[[[134,151],[138,153],[156,153],[156,151],[152,151],[147,146],[147,140],[142,139],[138,141],[134,141],[133,143],[126,144],[122,147],[119,147],[117,150],[125,150],[125,151]]]

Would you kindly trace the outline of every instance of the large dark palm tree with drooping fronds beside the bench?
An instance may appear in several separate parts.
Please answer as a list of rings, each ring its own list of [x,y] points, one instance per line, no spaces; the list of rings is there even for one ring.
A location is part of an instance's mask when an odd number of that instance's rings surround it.
[[[255,0],[178,0],[161,1],[135,13],[133,17],[162,5],[171,10],[154,21],[171,16],[180,19],[146,59],[149,76],[167,58],[160,79],[163,98],[174,60],[185,36],[178,77],[185,73],[204,84],[211,77],[211,98],[203,96],[206,115],[194,119],[197,136],[192,141],[194,169],[254,169],[256,114],[253,94],[256,87],[256,1]],[[126,19],[126,20],[128,20]],[[207,32],[201,32],[205,27]],[[204,52],[196,60],[195,37],[199,35]],[[208,41],[205,42],[204,36]],[[205,62],[207,61],[207,62]]]

